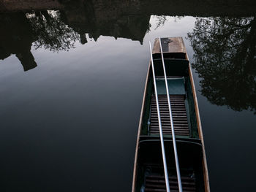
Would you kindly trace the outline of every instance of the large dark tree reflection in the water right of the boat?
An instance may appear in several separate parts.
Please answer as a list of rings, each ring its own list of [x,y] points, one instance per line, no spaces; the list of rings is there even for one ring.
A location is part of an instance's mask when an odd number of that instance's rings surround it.
[[[256,20],[197,18],[188,34],[202,94],[212,104],[256,112]]]

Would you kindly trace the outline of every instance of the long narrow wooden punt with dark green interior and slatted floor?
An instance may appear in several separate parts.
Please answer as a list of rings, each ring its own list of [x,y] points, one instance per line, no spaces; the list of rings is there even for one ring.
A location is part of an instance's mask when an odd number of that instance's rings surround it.
[[[208,192],[210,187],[203,132],[187,51],[181,37],[161,38],[161,44],[162,54],[159,39],[155,39],[152,58],[170,191],[178,191],[178,174],[161,55],[165,61],[182,190]],[[150,62],[138,128],[132,192],[167,191],[154,93]]]

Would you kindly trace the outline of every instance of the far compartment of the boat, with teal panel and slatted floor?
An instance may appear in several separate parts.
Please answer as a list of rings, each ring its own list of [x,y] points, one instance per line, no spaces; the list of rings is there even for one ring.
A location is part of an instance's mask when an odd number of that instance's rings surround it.
[[[165,56],[167,56],[167,58],[165,58]],[[192,86],[189,78],[189,61],[187,61],[186,58],[168,58],[168,56],[170,55],[164,55],[165,69],[176,137],[197,139],[197,119],[192,95]],[[156,55],[156,58],[154,58],[154,69],[156,74],[162,131],[165,137],[171,137],[170,115],[167,103],[165,78],[162,69],[162,59],[157,57],[158,56]],[[154,95],[154,83],[151,68],[149,74],[140,136],[159,135],[157,104]]]

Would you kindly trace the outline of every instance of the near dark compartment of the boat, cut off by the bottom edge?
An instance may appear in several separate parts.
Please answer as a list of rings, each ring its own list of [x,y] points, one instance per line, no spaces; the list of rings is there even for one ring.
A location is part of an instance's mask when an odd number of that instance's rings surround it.
[[[202,146],[200,143],[176,140],[184,192],[204,191]],[[138,188],[136,191],[166,191],[165,174],[159,139],[140,141],[138,155]],[[173,142],[165,139],[165,154],[169,174],[170,191],[178,191],[176,164],[173,158]]]

